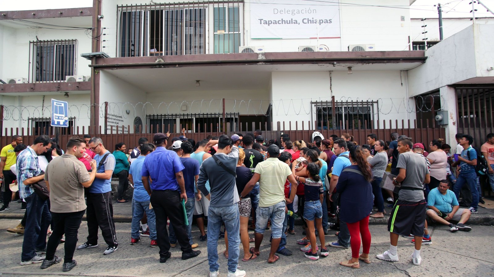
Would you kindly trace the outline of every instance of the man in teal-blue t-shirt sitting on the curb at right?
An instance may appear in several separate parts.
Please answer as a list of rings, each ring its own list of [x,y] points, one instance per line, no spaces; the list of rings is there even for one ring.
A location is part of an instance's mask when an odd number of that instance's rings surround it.
[[[470,218],[470,210],[459,208],[454,192],[449,190],[448,180],[441,180],[439,187],[431,190],[427,197],[427,208],[425,213],[435,222],[450,226],[451,232],[471,231],[470,226],[465,225]],[[458,221],[456,225],[450,221]]]

